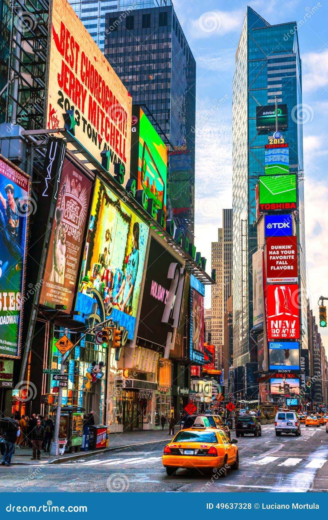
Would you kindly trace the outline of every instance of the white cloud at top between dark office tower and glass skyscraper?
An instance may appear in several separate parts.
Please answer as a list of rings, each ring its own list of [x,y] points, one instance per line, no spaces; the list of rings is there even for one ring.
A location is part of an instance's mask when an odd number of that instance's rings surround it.
[[[244,20],[243,9],[235,11],[205,11],[199,18],[191,21],[192,37],[224,36],[228,33],[240,32]]]

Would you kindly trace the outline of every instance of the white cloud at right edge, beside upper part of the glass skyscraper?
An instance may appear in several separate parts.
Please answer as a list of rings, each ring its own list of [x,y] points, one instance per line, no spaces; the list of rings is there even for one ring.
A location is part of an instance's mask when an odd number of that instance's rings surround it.
[[[314,92],[328,86],[328,49],[306,53],[302,58],[303,92]]]

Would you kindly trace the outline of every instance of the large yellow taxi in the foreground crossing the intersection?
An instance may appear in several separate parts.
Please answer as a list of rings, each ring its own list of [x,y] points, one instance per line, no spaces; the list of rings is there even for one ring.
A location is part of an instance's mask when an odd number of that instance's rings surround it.
[[[199,470],[219,470],[217,474],[227,476],[228,467],[239,468],[237,440],[230,440],[226,433],[216,428],[193,427],[180,430],[172,442],[164,448],[163,466],[168,476],[176,474],[179,468]]]

